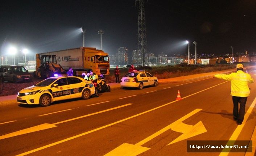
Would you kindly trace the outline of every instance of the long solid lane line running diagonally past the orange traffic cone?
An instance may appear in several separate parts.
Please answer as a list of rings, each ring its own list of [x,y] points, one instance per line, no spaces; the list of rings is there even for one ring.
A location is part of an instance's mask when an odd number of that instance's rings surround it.
[[[225,82],[223,82],[223,83],[226,83],[226,82],[229,82],[229,81],[225,81]],[[199,92],[197,92],[197,93],[204,92],[205,90],[211,89],[211,88],[216,87],[216,86],[218,86],[218,85],[221,85],[221,84],[223,84],[223,83],[220,83],[220,84],[214,85],[214,86],[212,86],[212,87],[210,87],[210,88],[203,89],[203,90],[201,90],[201,91],[199,91]],[[192,95],[195,95],[195,94],[197,94],[197,93],[194,93],[194,94],[191,94],[191,95],[189,95],[189,96],[186,96],[185,98],[190,97],[190,96],[192,96]],[[148,112],[150,112],[150,111],[153,111],[153,110],[159,109],[159,108],[161,108],[161,107],[164,107],[164,106],[170,105],[170,104],[172,104],[172,103],[174,103],[174,102],[177,102],[177,101],[178,101],[178,100],[175,100],[175,101],[169,102],[169,103],[167,103],[167,104],[164,104],[164,105],[161,105],[161,106],[155,107],[155,108],[153,108],[153,109],[150,109],[150,110],[144,111],[144,112],[142,112],[142,113],[139,113],[139,114],[133,115],[133,116],[131,116],[131,117],[128,117],[128,118],[125,118],[125,119],[122,119],[122,120],[119,120],[119,121],[116,121],[116,122],[110,123],[110,124],[108,124],[108,125],[105,125],[105,126],[102,126],[102,127],[99,127],[99,128],[95,128],[95,129],[93,129],[93,130],[90,130],[90,131],[84,132],[84,133],[82,133],[82,134],[78,134],[78,135],[72,136],[72,137],[70,137],[70,138],[66,138],[66,139],[60,140],[60,141],[55,142],[55,143],[51,143],[51,144],[48,144],[48,145],[45,145],[45,146],[42,146],[42,147],[39,147],[39,148],[33,149],[33,150],[28,151],[28,152],[25,152],[25,153],[21,153],[21,154],[16,155],[16,156],[24,156],[24,155],[28,155],[28,154],[30,154],[30,153],[34,153],[34,152],[40,151],[40,150],[45,149],[45,148],[48,148],[48,147],[51,147],[51,146],[55,146],[55,145],[57,145],[57,144],[61,144],[61,143],[63,143],[63,142],[67,142],[67,141],[69,141],[69,140],[72,140],[72,139],[78,138],[78,137],[80,137],[80,136],[84,136],[84,135],[90,134],[90,133],[92,133],[92,132],[95,132],[95,131],[98,131],[98,130],[102,130],[103,128],[110,127],[110,126],[115,125],[115,124],[117,124],[117,123],[121,123],[121,122],[123,122],[123,121],[127,121],[127,120],[132,119],[132,118],[135,118],[135,117],[137,117],[137,116],[139,116],[139,115],[142,115],[142,114],[148,113]],[[56,124],[56,123],[55,123],[55,124]]]

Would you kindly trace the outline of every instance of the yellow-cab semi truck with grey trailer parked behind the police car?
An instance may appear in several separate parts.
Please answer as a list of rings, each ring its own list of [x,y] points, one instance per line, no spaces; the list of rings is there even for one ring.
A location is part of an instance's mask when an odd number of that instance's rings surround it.
[[[97,75],[109,75],[110,63],[106,52],[92,47],[79,47],[52,52],[41,55],[55,55],[58,64],[64,69],[73,68],[74,76],[82,76],[83,72],[92,70]]]

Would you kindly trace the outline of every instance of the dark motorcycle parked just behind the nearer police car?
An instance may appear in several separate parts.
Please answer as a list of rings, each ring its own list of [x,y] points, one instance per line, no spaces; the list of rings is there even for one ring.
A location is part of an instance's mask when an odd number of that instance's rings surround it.
[[[104,75],[98,76],[98,79],[93,81],[95,89],[98,90],[98,93],[110,92],[110,85],[107,84]]]

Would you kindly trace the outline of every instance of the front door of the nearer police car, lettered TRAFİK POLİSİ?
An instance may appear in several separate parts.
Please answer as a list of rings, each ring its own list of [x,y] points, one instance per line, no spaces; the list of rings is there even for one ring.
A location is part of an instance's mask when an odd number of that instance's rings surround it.
[[[54,84],[58,84],[56,87],[51,87],[53,91],[53,98],[54,101],[57,100],[65,100],[69,99],[70,97],[70,87],[67,85],[67,78],[63,77],[57,80]]]

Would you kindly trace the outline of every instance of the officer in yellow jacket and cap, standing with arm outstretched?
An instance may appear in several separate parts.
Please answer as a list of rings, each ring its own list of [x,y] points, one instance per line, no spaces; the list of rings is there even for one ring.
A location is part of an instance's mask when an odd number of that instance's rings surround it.
[[[245,104],[247,97],[250,94],[250,89],[248,83],[253,83],[254,80],[251,75],[243,72],[243,64],[236,65],[236,72],[229,75],[226,74],[216,74],[215,77],[218,79],[231,81],[231,95],[233,100],[233,117],[237,121],[238,125],[241,125],[244,120]],[[240,104],[238,111],[238,103]]]

